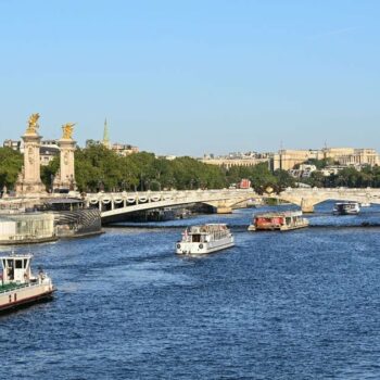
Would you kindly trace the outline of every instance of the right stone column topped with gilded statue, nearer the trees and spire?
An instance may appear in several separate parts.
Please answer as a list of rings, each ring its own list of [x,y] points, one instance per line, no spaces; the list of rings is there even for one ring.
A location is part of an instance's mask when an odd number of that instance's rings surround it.
[[[54,187],[60,189],[76,190],[74,152],[76,141],[72,138],[74,124],[66,124],[62,127],[63,136],[58,141],[60,147],[60,170],[54,180]]]

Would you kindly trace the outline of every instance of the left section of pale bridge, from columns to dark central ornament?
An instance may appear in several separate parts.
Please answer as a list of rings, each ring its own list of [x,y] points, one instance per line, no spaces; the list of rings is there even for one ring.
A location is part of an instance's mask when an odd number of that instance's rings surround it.
[[[218,213],[230,213],[239,203],[259,195],[253,189],[233,190],[183,190],[183,191],[145,191],[145,192],[114,192],[88,193],[85,201],[87,206],[98,207],[102,223],[123,220],[130,213],[203,203],[216,208]]]

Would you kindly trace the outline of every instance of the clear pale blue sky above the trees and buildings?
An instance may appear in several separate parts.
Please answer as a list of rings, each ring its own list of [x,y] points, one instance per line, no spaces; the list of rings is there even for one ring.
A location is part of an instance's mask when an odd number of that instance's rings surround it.
[[[380,151],[378,0],[0,0],[0,140]]]

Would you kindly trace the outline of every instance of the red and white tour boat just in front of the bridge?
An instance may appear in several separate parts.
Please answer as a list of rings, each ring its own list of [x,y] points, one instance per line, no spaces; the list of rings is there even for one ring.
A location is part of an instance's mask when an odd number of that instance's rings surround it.
[[[302,211],[284,211],[278,213],[255,214],[249,231],[288,231],[308,226],[308,220],[302,217]]]

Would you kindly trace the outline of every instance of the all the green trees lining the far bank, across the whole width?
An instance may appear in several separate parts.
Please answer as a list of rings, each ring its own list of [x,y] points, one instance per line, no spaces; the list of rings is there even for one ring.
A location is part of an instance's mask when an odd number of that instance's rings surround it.
[[[319,164],[319,163],[318,163]],[[320,163],[321,165],[326,163]],[[9,148],[0,148],[0,187],[13,189],[23,165],[23,155]],[[59,157],[41,167],[41,179],[48,189],[59,169]],[[220,189],[251,180],[258,193],[273,189],[281,191],[296,186],[286,170],[271,173],[267,164],[233,166],[230,169],[207,165],[191,157],[173,161],[156,159],[152,153],[136,153],[126,157],[103,145],[91,145],[75,152],[75,173],[78,189],[93,191],[143,191],[164,189]],[[320,172],[304,180],[312,187],[380,187],[380,168],[366,167],[362,172],[345,168],[338,175],[324,177]]]

